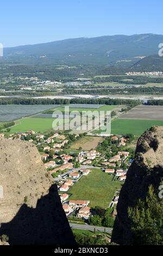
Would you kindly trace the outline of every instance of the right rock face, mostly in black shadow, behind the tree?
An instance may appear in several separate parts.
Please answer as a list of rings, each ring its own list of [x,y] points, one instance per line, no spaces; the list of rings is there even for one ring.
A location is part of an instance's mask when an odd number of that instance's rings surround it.
[[[150,184],[153,184],[154,188],[159,187],[163,180],[162,154],[163,127],[151,128],[137,142],[135,159],[120,193],[112,242],[120,245],[133,243],[128,207],[135,206],[140,198],[147,197]]]

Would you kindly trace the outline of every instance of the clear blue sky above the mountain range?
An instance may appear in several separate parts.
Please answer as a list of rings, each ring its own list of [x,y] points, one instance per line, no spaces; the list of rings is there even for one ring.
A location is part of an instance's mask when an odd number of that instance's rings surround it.
[[[162,0],[1,1],[4,47],[114,34],[162,34]]]

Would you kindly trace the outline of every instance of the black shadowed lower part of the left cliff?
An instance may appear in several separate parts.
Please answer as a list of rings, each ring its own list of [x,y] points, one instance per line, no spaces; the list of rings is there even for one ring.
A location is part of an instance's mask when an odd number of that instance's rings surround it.
[[[56,185],[37,201],[35,209],[22,205],[11,222],[1,225],[2,234],[9,236],[10,245],[76,244]]]

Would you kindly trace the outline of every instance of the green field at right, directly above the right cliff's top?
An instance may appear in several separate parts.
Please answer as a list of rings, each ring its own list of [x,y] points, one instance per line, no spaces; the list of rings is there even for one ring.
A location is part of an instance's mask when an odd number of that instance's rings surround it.
[[[138,119],[116,119],[111,123],[112,134],[127,134],[133,133],[134,135],[141,135],[145,130],[152,126],[163,126],[161,120],[138,120]]]

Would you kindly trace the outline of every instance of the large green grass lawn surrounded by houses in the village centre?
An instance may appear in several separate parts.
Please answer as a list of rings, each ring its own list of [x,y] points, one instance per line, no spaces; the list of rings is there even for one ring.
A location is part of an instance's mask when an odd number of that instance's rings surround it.
[[[118,181],[112,182],[112,175],[105,174],[102,170],[91,169],[88,176],[83,176],[73,185],[68,193],[72,194],[70,200],[89,200],[90,207],[109,207],[117,189],[122,187]]]

